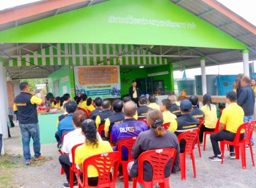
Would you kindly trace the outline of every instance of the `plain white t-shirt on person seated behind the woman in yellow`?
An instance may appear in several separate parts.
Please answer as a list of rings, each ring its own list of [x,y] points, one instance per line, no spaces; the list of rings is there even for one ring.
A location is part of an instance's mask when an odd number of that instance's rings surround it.
[[[98,132],[97,132],[97,136],[98,136],[98,140],[102,140]],[[84,142],[86,142],[86,136],[82,134],[82,128],[77,128],[65,135],[63,146],[61,149],[63,152],[69,153],[70,162],[72,162],[71,150],[73,146],[84,143]]]

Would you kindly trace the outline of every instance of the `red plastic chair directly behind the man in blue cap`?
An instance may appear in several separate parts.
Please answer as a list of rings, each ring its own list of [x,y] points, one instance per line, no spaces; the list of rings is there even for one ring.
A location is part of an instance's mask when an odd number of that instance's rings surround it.
[[[186,154],[190,155],[193,164],[193,171],[194,177],[197,177],[197,173],[195,171],[195,155],[194,155],[194,148],[195,148],[195,141],[197,140],[198,136],[198,129],[189,130],[183,132],[178,136],[178,140],[181,143],[181,140],[186,141],[185,151],[180,153],[180,164],[181,164],[181,180],[186,181]]]

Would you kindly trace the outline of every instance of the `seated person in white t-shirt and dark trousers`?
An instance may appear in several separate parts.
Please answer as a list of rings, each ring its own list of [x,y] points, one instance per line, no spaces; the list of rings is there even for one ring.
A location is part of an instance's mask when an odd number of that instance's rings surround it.
[[[84,111],[82,110],[75,111],[72,117],[72,124],[75,130],[65,135],[65,140],[63,142],[63,147],[62,147],[62,151],[65,152],[65,154],[61,154],[59,156],[59,162],[61,163],[61,167],[63,167],[65,175],[67,177],[67,183],[64,183],[63,187],[69,187],[69,167],[71,167],[73,162],[72,153],[71,153],[73,146],[86,142],[86,138],[82,134],[81,124],[87,118],[88,118],[87,114]],[[97,136],[99,140],[102,140],[98,133],[97,133]],[[75,173],[73,177],[74,177],[74,185],[76,185],[77,178],[75,176]]]

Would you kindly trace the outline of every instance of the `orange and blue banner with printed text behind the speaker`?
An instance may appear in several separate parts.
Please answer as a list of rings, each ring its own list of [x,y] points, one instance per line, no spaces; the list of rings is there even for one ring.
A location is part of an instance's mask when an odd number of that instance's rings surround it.
[[[119,66],[75,66],[75,95],[88,97],[121,97]]]

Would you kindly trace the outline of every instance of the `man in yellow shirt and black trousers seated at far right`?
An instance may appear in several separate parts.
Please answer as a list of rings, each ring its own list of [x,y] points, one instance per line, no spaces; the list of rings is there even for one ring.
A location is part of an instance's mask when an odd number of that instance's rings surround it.
[[[222,161],[222,153],[218,142],[223,140],[233,141],[236,136],[236,131],[241,124],[243,124],[244,111],[236,103],[236,93],[229,91],[226,93],[226,103],[228,107],[223,109],[222,116],[220,117],[219,132],[211,134],[212,148],[214,150],[214,156],[210,156],[209,160]],[[226,125],[226,130],[224,130]],[[244,132],[244,131],[243,131]],[[240,139],[244,138],[244,134],[241,134]],[[235,158],[234,146],[229,145],[230,158]]]

